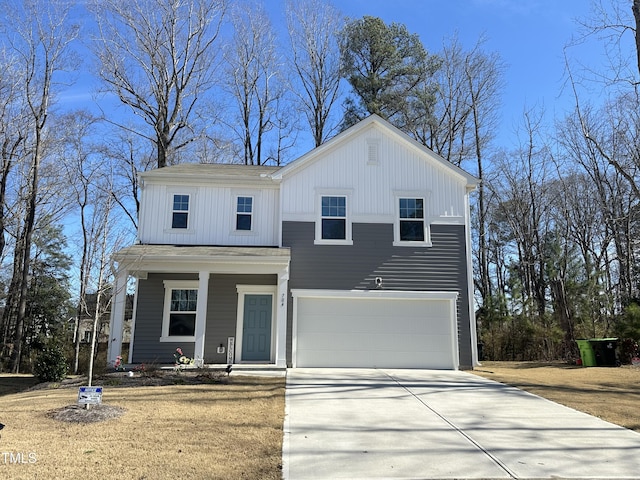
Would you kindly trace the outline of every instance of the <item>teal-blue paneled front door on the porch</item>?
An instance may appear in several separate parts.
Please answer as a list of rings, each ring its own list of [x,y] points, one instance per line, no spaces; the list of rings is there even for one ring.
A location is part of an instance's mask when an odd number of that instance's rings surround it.
[[[271,360],[271,295],[245,295],[242,323],[242,360]]]

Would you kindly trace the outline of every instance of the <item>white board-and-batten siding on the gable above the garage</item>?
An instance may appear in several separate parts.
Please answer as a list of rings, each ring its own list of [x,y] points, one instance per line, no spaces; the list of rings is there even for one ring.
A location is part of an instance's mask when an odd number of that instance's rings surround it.
[[[319,196],[342,193],[353,222],[392,223],[397,198],[424,197],[430,223],[464,223],[467,179],[376,125],[283,177],[283,221],[314,221]]]

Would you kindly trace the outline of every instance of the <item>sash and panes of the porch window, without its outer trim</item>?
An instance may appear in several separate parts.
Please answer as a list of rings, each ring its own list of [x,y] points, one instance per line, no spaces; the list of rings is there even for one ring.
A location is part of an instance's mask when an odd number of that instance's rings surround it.
[[[167,288],[163,336],[193,337],[196,332],[196,288]]]

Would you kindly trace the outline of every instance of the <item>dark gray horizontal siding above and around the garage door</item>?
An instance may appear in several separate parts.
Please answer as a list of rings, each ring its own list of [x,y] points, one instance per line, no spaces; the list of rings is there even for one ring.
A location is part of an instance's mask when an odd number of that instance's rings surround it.
[[[471,332],[465,231],[432,225],[431,247],[394,247],[393,225],[352,226],[353,245],[314,245],[312,222],[284,222],[282,244],[291,248],[289,288],[455,291],[458,296],[460,365],[471,366]],[[289,300],[287,361],[291,362],[292,300]]]

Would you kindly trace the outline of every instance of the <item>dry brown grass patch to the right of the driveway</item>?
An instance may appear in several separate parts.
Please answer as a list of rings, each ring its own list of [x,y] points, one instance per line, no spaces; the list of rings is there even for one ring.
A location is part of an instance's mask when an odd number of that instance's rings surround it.
[[[482,362],[473,371],[640,432],[640,368]]]

